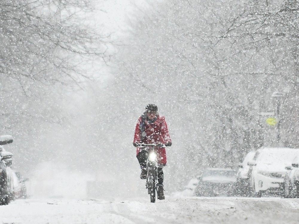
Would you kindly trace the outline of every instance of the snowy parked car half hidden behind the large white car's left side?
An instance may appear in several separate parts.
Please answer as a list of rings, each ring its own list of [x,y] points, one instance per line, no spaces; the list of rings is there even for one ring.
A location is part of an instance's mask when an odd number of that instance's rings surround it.
[[[256,151],[250,151],[245,156],[242,163],[239,163],[239,169],[237,172],[237,183],[236,183],[236,193],[239,196],[251,196],[251,171],[252,166],[248,165],[248,161],[254,160],[254,155]]]

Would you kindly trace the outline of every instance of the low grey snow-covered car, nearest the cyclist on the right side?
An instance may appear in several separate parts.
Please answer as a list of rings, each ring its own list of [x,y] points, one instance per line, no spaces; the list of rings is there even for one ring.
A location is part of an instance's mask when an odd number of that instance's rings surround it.
[[[233,196],[237,182],[236,171],[231,168],[208,168],[199,179],[195,196]]]

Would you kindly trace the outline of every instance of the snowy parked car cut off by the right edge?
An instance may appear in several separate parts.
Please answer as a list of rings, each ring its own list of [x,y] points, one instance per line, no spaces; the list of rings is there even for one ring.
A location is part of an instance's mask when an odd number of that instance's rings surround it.
[[[284,177],[284,197],[299,198],[299,153],[293,159],[291,165],[286,166],[286,176]]]

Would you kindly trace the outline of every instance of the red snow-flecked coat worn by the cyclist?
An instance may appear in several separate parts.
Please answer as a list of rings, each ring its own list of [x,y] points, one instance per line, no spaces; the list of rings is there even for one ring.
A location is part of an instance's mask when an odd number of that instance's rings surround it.
[[[136,128],[135,128],[135,135],[134,135],[134,141],[133,142],[140,142],[144,144],[164,144],[166,142],[171,142],[167,124],[165,122],[164,117],[160,117],[157,115],[157,119],[153,123],[149,123],[147,119],[145,119],[145,137],[141,142],[141,130],[139,128],[139,125],[141,123],[142,118],[139,117]],[[140,148],[137,148],[136,154],[138,154],[140,151]],[[158,163],[165,165],[166,160],[166,151],[165,148],[158,148],[157,149],[158,154]]]

